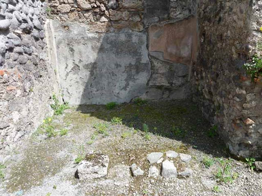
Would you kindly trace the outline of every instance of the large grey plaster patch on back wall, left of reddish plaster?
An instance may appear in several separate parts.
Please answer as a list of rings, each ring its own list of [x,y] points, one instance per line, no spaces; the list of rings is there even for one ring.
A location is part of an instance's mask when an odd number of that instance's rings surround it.
[[[88,33],[80,24],[52,23],[61,29],[54,36],[64,101],[129,102],[145,92],[151,74],[146,33]]]

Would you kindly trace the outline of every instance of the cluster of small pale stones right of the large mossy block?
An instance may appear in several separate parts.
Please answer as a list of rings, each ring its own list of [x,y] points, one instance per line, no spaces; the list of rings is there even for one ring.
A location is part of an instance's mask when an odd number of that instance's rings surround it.
[[[188,163],[192,159],[190,155],[183,153],[178,154],[175,151],[167,151],[165,154],[165,157],[163,157],[164,154],[161,152],[152,152],[147,155],[147,160],[151,164],[148,170],[148,177],[157,177],[160,174],[160,170],[161,176],[165,178],[176,178],[177,176],[189,177],[193,174],[193,170],[187,167],[183,171],[177,172],[174,160],[172,160],[179,157],[180,160],[188,166]],[[161,169],[159,169],[160,163],[162,163]],[[131,165],[130,169],[134,177],[144,175],[144,171],[135,163]]]

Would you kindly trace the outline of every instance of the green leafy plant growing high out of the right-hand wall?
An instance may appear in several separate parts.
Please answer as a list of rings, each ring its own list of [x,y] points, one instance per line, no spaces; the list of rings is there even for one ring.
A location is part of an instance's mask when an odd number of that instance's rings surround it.
[[[247,71],[247,74],[250,75],[252,81],[254,81],[255,78],[262,76],[262,58],[254,55],[252,61],[245,63],[243,68]]]

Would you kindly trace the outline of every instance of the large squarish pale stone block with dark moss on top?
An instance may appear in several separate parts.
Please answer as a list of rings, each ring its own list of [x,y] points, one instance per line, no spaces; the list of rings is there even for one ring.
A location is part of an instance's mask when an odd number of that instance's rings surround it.
[[[79,180],[100,178],[107,175],[109,157],[100,151],[89,152],[75,172]]]

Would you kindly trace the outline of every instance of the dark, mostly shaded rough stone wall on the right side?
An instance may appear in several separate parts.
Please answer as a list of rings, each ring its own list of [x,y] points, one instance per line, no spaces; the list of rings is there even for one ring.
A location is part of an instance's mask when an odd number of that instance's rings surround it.
[[[198,8],[201,53],[193,69],[198,101],[230,152],[241,157],[262,154],[262,86],[242,68],[261,40],[261,9],[261,1],[250,0],[200,0]]]

